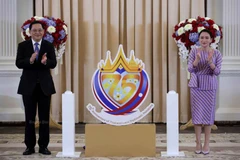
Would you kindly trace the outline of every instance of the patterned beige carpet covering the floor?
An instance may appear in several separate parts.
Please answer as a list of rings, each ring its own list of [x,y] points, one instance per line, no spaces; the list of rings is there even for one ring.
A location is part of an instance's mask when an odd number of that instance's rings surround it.
[[[166,151],[166,134],[156,135],[156,157],[85,157],[83,146],[85,143],[84,134],[76,134],[75,151],[82,152],[80,158],[58,158],[56,154],[62,151],[61,134],[51,134],[49,150],[52,155],[39,154],[36,146],[36,153],[23,156],[25,150],[23,134],[0,134],[0,160],[240,160],[240,134],[212,134],[210,141],[210,154],[195,154],[195,135],[179,135],[179,151],[184,152],[184,157],[161,157],[161,152]],[[203,139],[203,135],[202,135]]]

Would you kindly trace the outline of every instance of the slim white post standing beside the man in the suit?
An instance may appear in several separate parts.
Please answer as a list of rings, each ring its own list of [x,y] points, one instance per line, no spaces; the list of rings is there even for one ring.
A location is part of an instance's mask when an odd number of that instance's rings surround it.
[[[80,157],[75,152],[75,100],[71,91],[62,94],[62,152],[56,157]]]

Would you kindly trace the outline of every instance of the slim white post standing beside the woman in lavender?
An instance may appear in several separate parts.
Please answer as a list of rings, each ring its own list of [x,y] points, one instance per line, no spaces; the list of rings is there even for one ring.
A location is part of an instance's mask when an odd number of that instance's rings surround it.
[[[162,156],[185,156],[179,152],[179,126],[178,126],[178,94],[169,91],[167,94],[167,152]]]

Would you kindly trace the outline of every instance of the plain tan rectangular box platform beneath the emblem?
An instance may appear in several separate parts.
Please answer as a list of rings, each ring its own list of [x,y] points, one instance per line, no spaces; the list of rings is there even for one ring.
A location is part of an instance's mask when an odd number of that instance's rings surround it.
[[[85,125],[86,157],[155,157],[155,124]]]

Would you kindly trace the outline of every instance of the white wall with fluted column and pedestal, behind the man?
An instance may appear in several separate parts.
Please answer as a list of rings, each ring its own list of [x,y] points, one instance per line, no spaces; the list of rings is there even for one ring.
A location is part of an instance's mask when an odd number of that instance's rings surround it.
[[[0,121],[24,121],[17,87],[21,70],[15,66],[21,26],[33,16],[32,0],[0,1]]]

